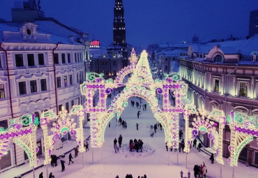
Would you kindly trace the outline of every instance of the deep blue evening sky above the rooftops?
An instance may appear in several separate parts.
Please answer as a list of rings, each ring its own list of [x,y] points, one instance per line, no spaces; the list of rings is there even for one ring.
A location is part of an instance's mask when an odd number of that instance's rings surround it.
[[[0,18],[11,20],[14,1],[0,0]],[[38,1],[38,0],[36,0]],[[90,34],[102,45],[112,43],[115,0],[41,0],[46,17]],[[126,40],[134,46],[248,35],[257,0],[123,0]]]

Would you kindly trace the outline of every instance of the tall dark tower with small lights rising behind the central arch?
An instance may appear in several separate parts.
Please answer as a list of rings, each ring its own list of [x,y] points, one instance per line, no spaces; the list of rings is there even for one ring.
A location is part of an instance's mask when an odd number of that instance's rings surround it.
[[[124,19],[122,0],[115,0],[113,43],[107,47],[107,52],[110,55],[116,55],[116,53],[119,53],[121,55],[123,66],[128,65],[128,44],[126,43],[126,23]]]

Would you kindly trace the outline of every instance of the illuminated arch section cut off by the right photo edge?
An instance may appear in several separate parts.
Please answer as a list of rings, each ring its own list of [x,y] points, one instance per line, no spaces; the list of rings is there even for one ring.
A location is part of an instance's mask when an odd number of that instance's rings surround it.
[[[230,158],[228,162],[231,166],[237,166],[238,157],[243,147],[252,142],[254,137],[258,137],[258,125],[255,116],[249,117],[241,112],[231,112],[227,117],[230,128]]]

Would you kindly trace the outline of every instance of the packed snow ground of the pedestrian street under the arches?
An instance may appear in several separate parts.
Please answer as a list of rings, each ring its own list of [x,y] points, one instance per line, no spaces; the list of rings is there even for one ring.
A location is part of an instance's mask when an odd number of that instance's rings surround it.
[[[130,100],[139,101],[139,98],[130,98]],[[61,172],[60,159],[58,160],[58,166],[52,168],[48,165],[48,173],[53,172],[56,178],[114,178],[116,175],[124,178],[127,174],[131,174],[132,177],[147,175],[148,178],[179,178],[180,172],[183,170],[184,176],[190,171],[191,177],[193,175],[193,167],[195,164],[205,165],[208,169],[208,178],[220,177],[220,165],[218,163],[211,164],[208,160],[209,156],[204,152],[198,152],[197,149],[192,148],[189,154],[187,154],[187,168],[186,154],[182,152],[171,152],[165,149],[165,135],[163,131],[158,128],[157,133],[151,138],[150,126],[154,125],[157,121],[153,117],[150,107],[147,106],[146,111],[142,111],[139,119],[137,119],[137,108],[130,105],[128,101],[128,107],[121,114],[121,118],[126,120],[128,127],[122,128],[122,126],[116,127],[116,119],[112,119],[111,127],[107,126],[105,131],[105,142],[102,148],[89,148],[89,151],[79,153],[77,158],[74,158],[75,163],[68,165],[68,155],[64,160],[66,161],[66,170]],[[144,100],[142,100],[145,103]],[[139,124],[139,130],[137,131],[135,124]],[[123,136],[122,144],[129,144],[130,139],[142,139],[144,144],[151,147],[153,154],[148,156],[139,156],[141,153],[133,153],[129,151],[125,154],[121,149],[119,153],[114,153],[113,140],[118,138],[119,135]],[[89,129],[86,130],[84,135],[89,135]],[[74,151],[72,151],[74,156]],[[82,156],[83,154],[83,156]],[[130,156],[128,156],[130,154]],[[139,154],[139,155],[137,155]],[[177,155],[179,155],[177,165]],[[84,161],[84,165],[82,164]],[[227,163],[227,159],[224,159],[225,165],[222,165],[222,177],[232,177],[233,168]],[[84,166],[84,168],[83,168]],[[15,171],[15,168],[12,169]],[[40,172],[46,176],[46,168],[40,168],[35,171],[36,177]],[[1,174],[0,177],[2,178]],[[33,177],[33,174],[24,176],[25,178]],[[235,178],[257,178],[258,169],[253,167],[246,167],[243,163],[238,163],[238,167],[234,168]],[[4,177],[7,178],[7,177]],[[8,177],[9,178],[9,177]]]

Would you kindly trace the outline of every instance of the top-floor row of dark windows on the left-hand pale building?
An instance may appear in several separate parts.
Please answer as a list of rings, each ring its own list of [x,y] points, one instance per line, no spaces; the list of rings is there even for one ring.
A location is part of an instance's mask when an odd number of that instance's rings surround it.
[[[61,63],[62,64],[66,64],[66,63],[70,64],[71,63],[71,54],[74,54],[75,62],[82,61],[82,53],[79,53],[79,52],[67,53],[67,58],[66,58],[66,53],[61,53],[61,60],[62,60]],[[26,54],[27,65],[29,67],[30,66],[36,66],[35,55],[36,54]],[[59,54],[58,53],[54,54],[54,63],[59,64]],[[15,64],[16,64],[17,67],[26,66],[26,65],[24,65],[24,54],[15,54]],[[44,54],[43,53],[38,54],[38,65],[39,66],[45,65],[45,59],[44,59]],[[1,67],[1,62],[0,62],[0,67]]]

